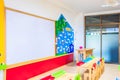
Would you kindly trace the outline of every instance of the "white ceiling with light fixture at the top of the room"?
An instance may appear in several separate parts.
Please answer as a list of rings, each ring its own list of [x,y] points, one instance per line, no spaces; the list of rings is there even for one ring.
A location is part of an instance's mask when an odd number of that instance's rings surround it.
[[[120,5],[116,7],[101,7],[105,0],[48,0],[63,8],[83,13],[94,13],[101,11],[120,10]]]

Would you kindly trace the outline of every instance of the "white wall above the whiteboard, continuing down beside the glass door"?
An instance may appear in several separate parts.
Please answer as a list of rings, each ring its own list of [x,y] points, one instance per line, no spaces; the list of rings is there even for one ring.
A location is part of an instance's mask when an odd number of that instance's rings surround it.
[[[5,6],[28,13],[36,14],[49,19],[57,20],[62,13],[75,30],[75,48],[83,45],[83,14],[77,14],[69,8],[57,6],[47,0],[5,0]],[[80,31],[79,31],[80,30]],[[0,71],[0,80],[3,72]]]

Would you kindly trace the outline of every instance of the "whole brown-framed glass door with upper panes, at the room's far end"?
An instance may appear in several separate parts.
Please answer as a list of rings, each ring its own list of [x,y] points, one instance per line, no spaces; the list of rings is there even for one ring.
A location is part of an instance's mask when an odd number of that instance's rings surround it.
[[[119,27],[120,14],[86,16],[86,48],[94,48],[94,56],[104,57],[105,62],[120,63]]]

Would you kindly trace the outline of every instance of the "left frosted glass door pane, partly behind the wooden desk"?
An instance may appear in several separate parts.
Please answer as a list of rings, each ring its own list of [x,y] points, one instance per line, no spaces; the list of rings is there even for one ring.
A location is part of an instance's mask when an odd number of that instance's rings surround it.
[[[100,57],[100,27],[86,26],[86,48],[94,48],[93,55]]]

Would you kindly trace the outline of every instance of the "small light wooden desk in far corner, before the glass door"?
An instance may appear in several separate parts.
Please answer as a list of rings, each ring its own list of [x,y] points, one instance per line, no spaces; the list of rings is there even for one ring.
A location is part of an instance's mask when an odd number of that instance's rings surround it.
[[[77,56],[76,56],[77,61],[79,61],[78,54],[83,54],[83,59],[86,59],[87,56],[93,54],[93,49],[85,48],[85,49],[77,49],[76,51],[77,51]]]

